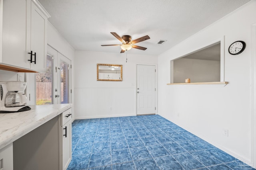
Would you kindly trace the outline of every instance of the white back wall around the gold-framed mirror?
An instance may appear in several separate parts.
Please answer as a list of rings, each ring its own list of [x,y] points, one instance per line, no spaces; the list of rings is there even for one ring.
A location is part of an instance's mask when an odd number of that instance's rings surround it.
[[[76,119],[136,115],[136,64],[156,65],[156,56],[128,53],[127,63],[126,53],[76,51],[75,56]],[[97,63],[122,64],[123,81],[97,81]]]

